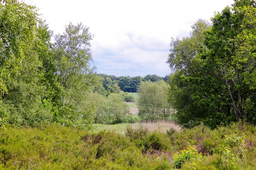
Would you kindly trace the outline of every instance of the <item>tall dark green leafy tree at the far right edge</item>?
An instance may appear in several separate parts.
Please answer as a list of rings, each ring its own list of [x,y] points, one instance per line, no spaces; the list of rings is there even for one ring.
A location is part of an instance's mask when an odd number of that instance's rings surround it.
[[[201,55],[206,64],[214,66],[212,77],[225,87],[236,121],[246,119],[251,114],[245,109],[246,100],[255,93],[248,83],[252,85],[255,75],[256,2],[237,0],[233,8],[216,14],[212,23],[205,41],[209,50]]]

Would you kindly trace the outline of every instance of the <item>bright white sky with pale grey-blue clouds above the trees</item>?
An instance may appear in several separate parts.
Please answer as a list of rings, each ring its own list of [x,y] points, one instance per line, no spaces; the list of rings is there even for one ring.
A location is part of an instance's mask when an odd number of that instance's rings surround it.
[[[35,5],[54,34],[82,22],[91,41],[97,73],[145,76],[171,73],[166,63],[171,38],[189,36],[199,19],[233,0],[23,0]]]

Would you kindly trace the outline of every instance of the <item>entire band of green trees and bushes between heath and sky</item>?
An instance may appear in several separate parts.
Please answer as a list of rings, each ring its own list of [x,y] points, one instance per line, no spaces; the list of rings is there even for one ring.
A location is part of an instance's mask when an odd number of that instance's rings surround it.
[[[145,121],[168,119],[175,111],[183,127],[256,124],[255,0],[235,0],[211,23],[195,22],[189,37],[173,38],[167,61],[173,73],[166,77],[97,75],[90,65],[92,39],[82,23],[69,23],[54,35],[35,6],[1,0],[0,126],[48,122],[90,128],[93,122],[127,121],[123,102],[132,98],[124,92],[139,92]],[[101,115],[93,93],[105,96],[99,99],[106,103]]]

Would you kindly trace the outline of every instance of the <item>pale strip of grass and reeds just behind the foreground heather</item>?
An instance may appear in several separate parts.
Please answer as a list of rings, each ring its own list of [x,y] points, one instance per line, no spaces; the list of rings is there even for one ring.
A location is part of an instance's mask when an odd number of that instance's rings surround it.
[[[154,130],[166,133],[166,130],[169,130],[171,127],[174,128],[177,131],[180,131],[180,127],[175,125],[172,122],[156,122],[156,123],[151,123],[151,122],[144,122],[144,123],[122,123],[122,124],[116,124],[116,125],[103,125],[103,124],[96,124],[96,130],[101,131],[101,130],[115,130],[117,133],[125,134],[126,127],[128,125],[131,125],[133,128],[138,128],[140,125],[147,127],[149,131],[153,132]]]

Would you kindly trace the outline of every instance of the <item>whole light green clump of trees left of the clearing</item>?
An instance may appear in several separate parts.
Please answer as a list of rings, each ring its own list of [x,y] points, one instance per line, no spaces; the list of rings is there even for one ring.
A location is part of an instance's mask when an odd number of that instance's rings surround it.
[[[93,115],[84,103],[98,82],[90,66],[93,35],[69,23],[51,43],[37,11],[23,1],[0,1],[0,126],[44,121],[90,128]]]

